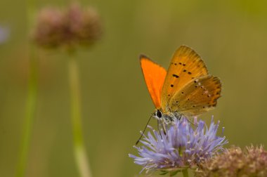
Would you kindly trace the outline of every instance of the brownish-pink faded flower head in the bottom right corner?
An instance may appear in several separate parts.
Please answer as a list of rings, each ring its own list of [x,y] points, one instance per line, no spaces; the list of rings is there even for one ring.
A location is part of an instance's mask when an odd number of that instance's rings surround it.
[[[267,176],[267,151],[263,147],[230,147],[221,155],[205,160],[196,176]]]

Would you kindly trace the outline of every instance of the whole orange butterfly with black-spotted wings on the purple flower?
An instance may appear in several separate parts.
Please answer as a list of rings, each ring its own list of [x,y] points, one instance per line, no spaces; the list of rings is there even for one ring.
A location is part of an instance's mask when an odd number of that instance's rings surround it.
[[[221,96],[221,81],[210,75],[200,55],[188,46],[174,53],[168,71],[140,56],[145,84],[156,107],[152,115],[164,124],[193,117],[214,108]]]

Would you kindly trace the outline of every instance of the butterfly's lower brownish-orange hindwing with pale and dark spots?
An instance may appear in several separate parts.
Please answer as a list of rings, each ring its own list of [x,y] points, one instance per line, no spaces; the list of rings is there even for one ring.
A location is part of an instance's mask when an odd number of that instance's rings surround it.
[[[221,96],[221,81],[207,75],[198,77],[174,94],[169,102],[171,112],[196,116],[214,108]]]

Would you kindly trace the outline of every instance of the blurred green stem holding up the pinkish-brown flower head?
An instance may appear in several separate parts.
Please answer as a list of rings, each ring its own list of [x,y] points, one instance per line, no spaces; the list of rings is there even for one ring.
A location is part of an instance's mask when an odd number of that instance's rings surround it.
[[[73,53],[70,53],[73,56]],[[91,177],[89,162],[86,157],[86,150],[82,137],[82,114],[81,96],[79,89],[79,74],[77,61],[74,58],[69,60],[70,96],[72,110],[72,133],[74,142],[74,155],[79,169],[80,176]]]

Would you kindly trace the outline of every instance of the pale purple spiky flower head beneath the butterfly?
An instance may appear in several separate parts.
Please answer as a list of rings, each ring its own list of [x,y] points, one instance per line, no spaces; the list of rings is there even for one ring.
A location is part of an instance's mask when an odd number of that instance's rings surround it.
[[[181,169],[195,169],[197,164],[204,159],[212,157],[216,152],[223,150],[223,145],[228,143],[226,138],[216,136],[219,122],[214,124],[211,119],[209,128],[200,120],[198,126],[193,129],[190,122],[183,118],[176,121],[166,134],[163,130],[149,131],[144,136],[141,147],[136,147],[139,157],[129,155],[135,164],[143,166],[143,170],[149,171],[179,171]],[[141,171],[141,172],[142,172]]]

